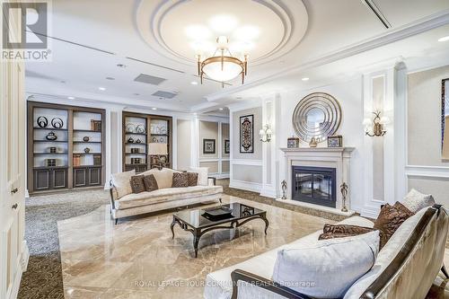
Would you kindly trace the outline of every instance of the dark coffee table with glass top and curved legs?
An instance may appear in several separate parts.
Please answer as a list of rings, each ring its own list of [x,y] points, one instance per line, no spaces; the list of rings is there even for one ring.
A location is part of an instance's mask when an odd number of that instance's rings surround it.
[[[174,239],[175,224],[179,224],[184,231],[193,234],[193,248],[197,258],[198,242],[203,234],[217,229],[234,229],[254,219],[262,219],[265,222],[265,234],[267,234],[269,228],[267,212],[237,202],[218,207],[180,211],[173,214],[170,228],[172,239]]]

